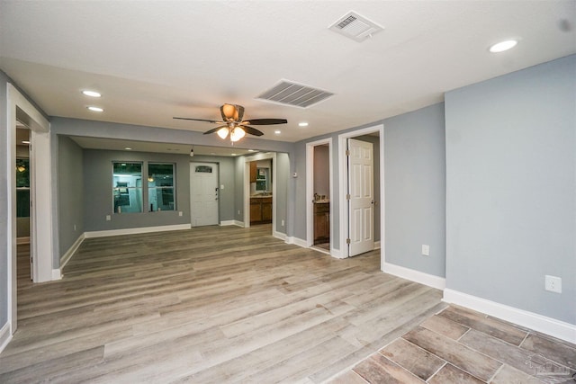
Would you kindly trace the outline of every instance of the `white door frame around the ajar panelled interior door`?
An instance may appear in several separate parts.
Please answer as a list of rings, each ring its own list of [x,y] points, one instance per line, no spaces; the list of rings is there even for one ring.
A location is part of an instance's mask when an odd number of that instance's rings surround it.
[[[348,185],[348,165],[347,165],[347,139],[356,138],[358,136],[368,135],[370,133],[378,133],[379,135],[379,156],[380,156],[380,268],[386,261],[386,243],[385,243],[385,200],[384,200],[384,125],[378,124],[363,129],[356,129],[338,135],[338,169],[340,170],[340,178],[338,180],[338,213],[339,213],[339,246],[340,258],[349,257],[349,247],[347,246],[346,239],[348,237],[348,204],[346,199],[347,185]]]

